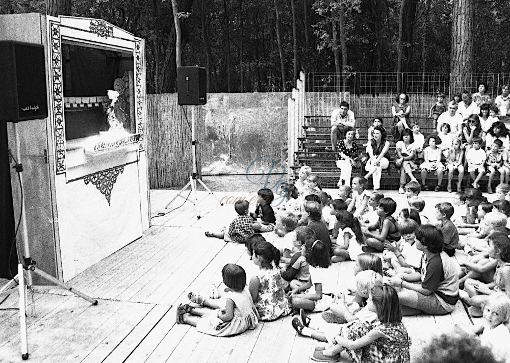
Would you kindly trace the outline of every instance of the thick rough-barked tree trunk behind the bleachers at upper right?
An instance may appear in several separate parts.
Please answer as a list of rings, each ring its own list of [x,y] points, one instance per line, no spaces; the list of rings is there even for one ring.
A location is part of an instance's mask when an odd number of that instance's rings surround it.
[[[473,0],[453,0],[451,31],[450,93],[465,88],[465,76],[474,72]]]

